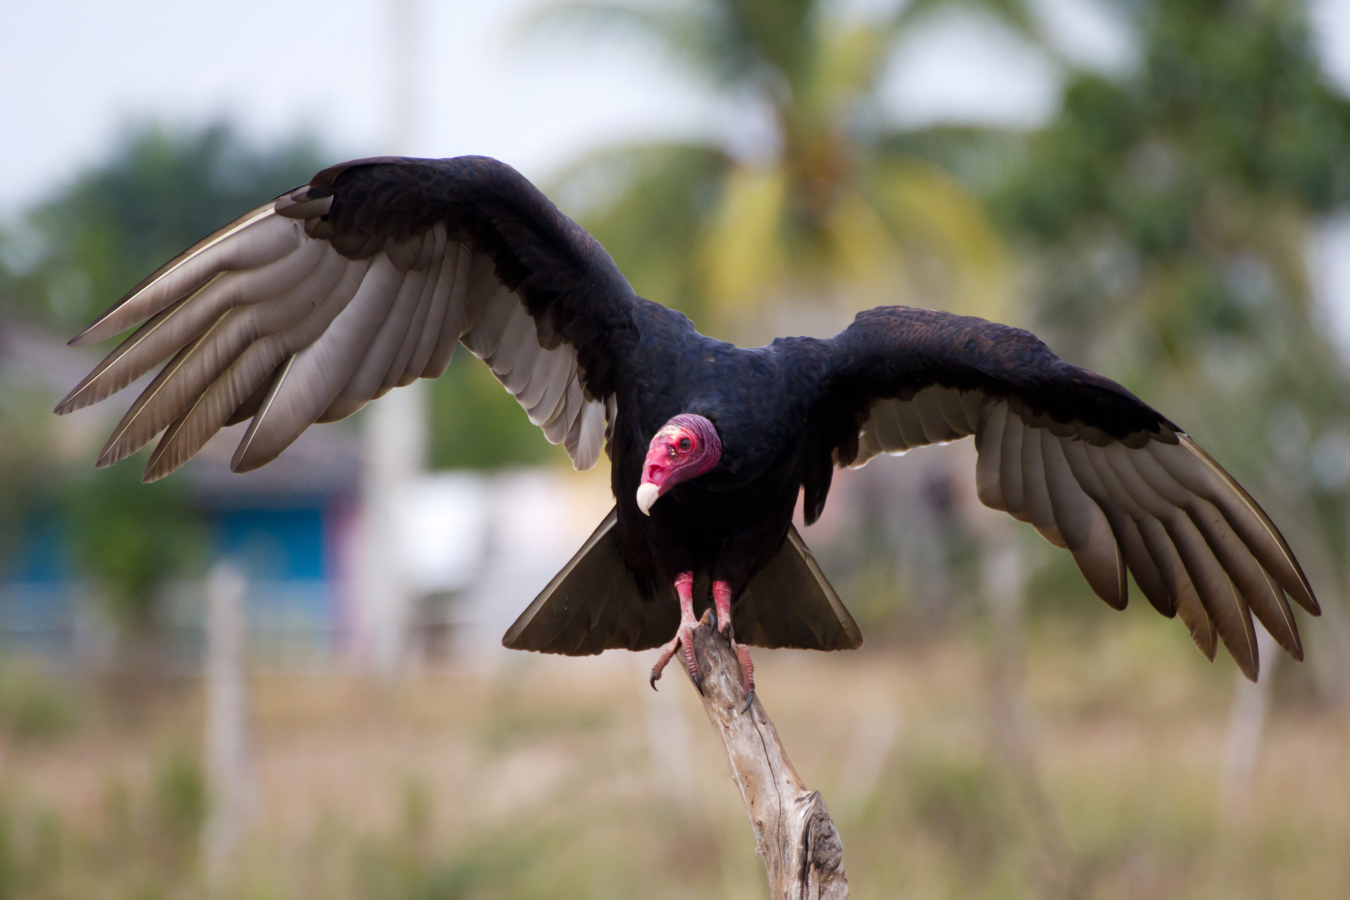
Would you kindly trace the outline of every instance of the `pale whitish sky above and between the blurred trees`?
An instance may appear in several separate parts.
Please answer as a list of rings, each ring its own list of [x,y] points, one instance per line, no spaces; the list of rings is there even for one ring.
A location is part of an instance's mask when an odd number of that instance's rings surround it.
[[[138,119],[224,116],[262,139],[306,127],[335,161],[390,152],[392,1],[9,0],[0,12],[0,221],[101,159]],[[755,140],[753,109],[714,101],[641,47],[524,39],[521,20],[541,1],[412,0],[418,89],[404,151],[487,154],[541,179],[626,140]],[[837,1],[864,16],[896,3]],[[1108,72],[1133,63],[1129,32],[1103,0],[1037,1],[1065,57]],[[1350,0],[1310,7],[1327,69],[1350,89]],[[883,93],[902,125],[1030,127],[1053,115],[1058,84],[1044,54],[957,12],[896,49]],[[1323,296],[1350,310],[1350,264],[1336,262],[1350,259],[1343,223],[1314,256]],[[1350,343],[1350,314],[1342,318]]]

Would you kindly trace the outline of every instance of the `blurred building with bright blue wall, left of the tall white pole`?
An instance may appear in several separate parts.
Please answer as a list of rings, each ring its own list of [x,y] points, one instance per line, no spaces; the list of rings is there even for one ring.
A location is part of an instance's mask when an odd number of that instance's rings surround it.
[[[24,393],[50,410],[88,359],[18,322],[0,328],[0,390]],[[135,386],[134,386],[135,387]],[[134,395],[134,391],[132,394]],[[92,466],[120,407],[51,417],[53,443],[70,466]],[[47,413],[50,416],[50,413]],[[254,652],[267,658],[325,660],[348,642],[354,524],[359,517],[360,441],[347,429],[306,432],[271,466],[234,475],[230,456],[243,426],[225,429],[176,478],[200,513],[207,563],[230,557],[248,576]],[[135,466],[126,461],[123,466]],[[59,509],[23,514],[0,568],[0,648],[61,663],[97,661],[108,644],[94,588],[81,578]],[[170,582],[165,621],[171,663],[196,667],[201,584]]]

